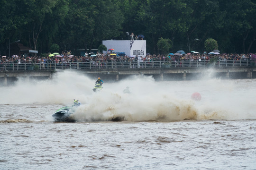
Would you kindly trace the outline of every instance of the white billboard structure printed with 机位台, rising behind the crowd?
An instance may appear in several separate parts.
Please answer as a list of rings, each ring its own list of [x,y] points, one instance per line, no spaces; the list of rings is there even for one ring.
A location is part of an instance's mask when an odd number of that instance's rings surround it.
[[[102,44],[105,45],[107,49],[114,49],[112,53],[118,54],[125,52],[128,56],[146,56],[146,40],[106,40],[102,41]]]

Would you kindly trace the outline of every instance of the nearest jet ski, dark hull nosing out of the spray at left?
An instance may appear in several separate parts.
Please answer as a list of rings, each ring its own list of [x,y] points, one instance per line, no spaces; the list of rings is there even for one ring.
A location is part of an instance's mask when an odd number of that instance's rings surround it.
[[[73,114],[72,107],[65,106],[57,110],[52,116],[55,121],[75,122],[75,120],[72,119],[71,114]]]

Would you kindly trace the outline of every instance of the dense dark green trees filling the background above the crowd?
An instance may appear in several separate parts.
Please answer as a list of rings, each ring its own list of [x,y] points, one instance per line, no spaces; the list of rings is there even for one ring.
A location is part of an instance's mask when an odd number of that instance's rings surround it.
[[[208,38],[221,52],[256,52],[255,0],[1,0],[0,8],[0,55],[17,40],[39,53],[56,43],[79,54],[126,32],[143,34],[147,53],[166,52],[161,37],[169,52],[206,51]]]

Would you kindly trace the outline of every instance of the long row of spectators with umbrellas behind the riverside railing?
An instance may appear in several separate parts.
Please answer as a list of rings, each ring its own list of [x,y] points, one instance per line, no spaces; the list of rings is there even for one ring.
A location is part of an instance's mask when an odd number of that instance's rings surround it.
[[[100,53],[97,52],[91,56],[87,52],[83,56],[74,56],[71,51],[62,52],[60,55],[49,57],[51,53],[47,54],[46,57],[34,56],[11,56],[5,57],[0,56],[0,63],[70,63],[70,62],[129,62],[129,61],[184,61],[184,60],[210,60],[213,57],[218,57],[219,60],[250,60],[255,54],[184,54],[184,55],[151,55],[147,54],[145,57],[142,56],[119,56],[111,55],[112,52]],[[254,60],[254,59],[253,59]]]

